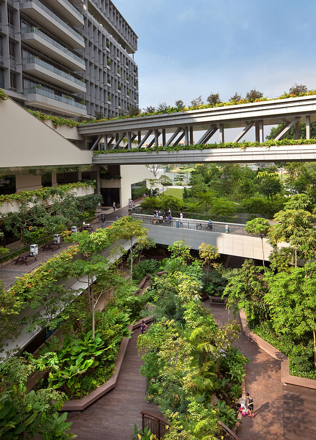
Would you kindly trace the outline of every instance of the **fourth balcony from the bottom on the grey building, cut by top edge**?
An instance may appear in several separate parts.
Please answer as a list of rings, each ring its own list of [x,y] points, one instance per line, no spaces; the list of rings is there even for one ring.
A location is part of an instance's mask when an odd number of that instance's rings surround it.
[[[20,10],[43,28],[52,32],[67,45],[75,49],[84,48],[84,38],[39,0],[21,0]]]

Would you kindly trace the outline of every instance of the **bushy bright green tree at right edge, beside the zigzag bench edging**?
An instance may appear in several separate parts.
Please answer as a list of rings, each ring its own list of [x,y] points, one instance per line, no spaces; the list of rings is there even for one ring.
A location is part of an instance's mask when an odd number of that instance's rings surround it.
[[[265,301],[270,306],[272,325],[277,332],[302,337],[312,331],[316,368],[316,263],[290,273],[267,274],[269,289]]]

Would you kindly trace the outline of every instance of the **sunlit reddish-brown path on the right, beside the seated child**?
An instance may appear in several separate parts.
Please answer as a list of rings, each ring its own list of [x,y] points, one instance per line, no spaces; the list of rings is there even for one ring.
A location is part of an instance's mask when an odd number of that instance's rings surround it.
[[[204,303],[210,307],[209,300]],[[233,319],[233,314],[222,306],[212,305],[211,310],[218,325]],[[237,323],[240,324],[239,315]],[[263,349],[240,333],[234,345],[251,362],[246,366],[246,392],[254,401],[255,417],[243,417],[237,436],[240,440],[288,439],[284,424],[283,386],[281,363],[269,356]],[[304,420],[302,420],[304,424]],[[294,437],[293,437],[294,438]],[[308,437],[306,437],[308,438]]]

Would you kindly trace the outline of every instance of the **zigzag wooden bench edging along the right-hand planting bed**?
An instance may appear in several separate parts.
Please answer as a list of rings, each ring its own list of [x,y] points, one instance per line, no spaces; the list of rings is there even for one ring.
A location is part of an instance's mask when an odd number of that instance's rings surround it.
[[[250,330],[244,309],[239,310],[239,316],[241,321],[241,328],[245,335],[252,341],[254,341],[259,347],[265,350],[268,355],[281,362],[281,381],[283,384],[304,386],[305,388],[316,390],[316,380],[307,379],[305,377],[292,376],[289,372],[289,358],[281,353],[281,351],[273,347],[273,345],[269,344],[267,341],[264,341],[262,338],[260,338],[258,335]]]

